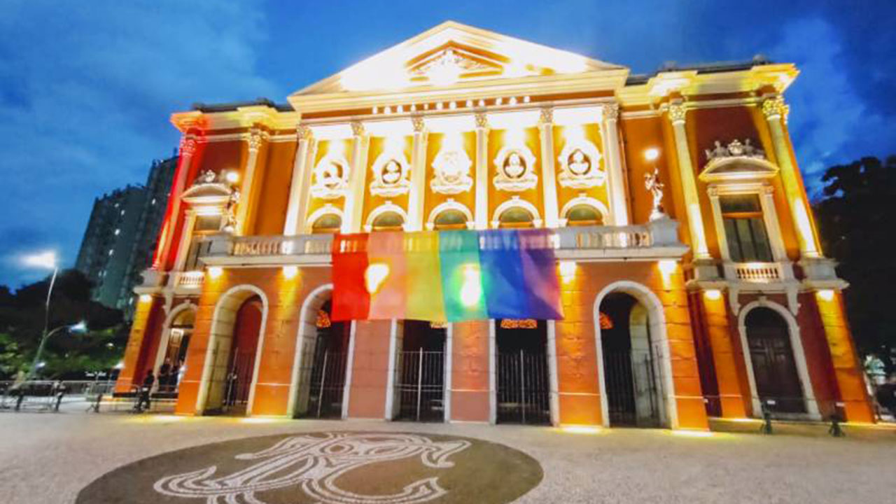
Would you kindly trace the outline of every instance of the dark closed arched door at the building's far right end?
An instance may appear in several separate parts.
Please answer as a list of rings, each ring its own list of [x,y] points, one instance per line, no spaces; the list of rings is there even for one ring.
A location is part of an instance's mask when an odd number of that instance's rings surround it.
[[[806,413],[787,321],[774,309],[756,307],[746,314],[744,325],[762,404],[773,412]]]

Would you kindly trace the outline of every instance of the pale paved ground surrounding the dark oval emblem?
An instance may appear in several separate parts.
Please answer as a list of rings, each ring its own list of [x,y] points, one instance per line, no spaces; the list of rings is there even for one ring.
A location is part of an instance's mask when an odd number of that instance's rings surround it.
[[[518,502],[890,502],[896,431],[874,440],[668,430],[569,430],[382,421],[0,413],[4,503],[71,503],[138,459],[226,439],[322,430],[418,431],[486,439],[534,456],[544,480]],[[198,502],[198,501],[197,501]]]

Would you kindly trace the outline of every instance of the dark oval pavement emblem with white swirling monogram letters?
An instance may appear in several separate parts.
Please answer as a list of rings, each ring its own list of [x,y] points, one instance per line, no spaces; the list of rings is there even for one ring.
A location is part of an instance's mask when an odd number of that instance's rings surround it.
[[[75,502],[498,504],[518,500],[543,477],[531,456],[479,439],[291,433],[228,439],[145,458],[91,482]]]

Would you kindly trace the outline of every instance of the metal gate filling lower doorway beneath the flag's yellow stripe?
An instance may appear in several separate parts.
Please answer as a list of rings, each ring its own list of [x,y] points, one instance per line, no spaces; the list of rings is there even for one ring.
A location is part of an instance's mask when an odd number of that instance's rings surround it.
[[[444,352],[399,353],[399,420],[444,420]]]

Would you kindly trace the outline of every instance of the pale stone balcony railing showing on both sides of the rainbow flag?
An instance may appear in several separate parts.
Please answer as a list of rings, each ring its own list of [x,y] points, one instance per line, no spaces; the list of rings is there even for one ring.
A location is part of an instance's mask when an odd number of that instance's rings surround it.
[[[640,226],[583,226],[554,230],[551,242],[558,258],[680,257],[687,248],[678,241],[676,221],[662,219]],[[333,235],[212,235],[203,244],[206,265],[330,264]]]

